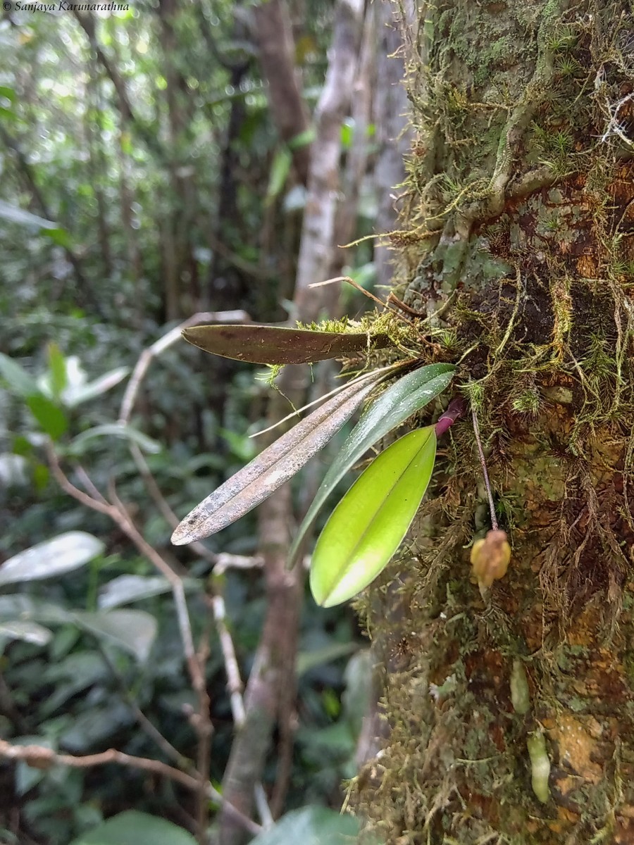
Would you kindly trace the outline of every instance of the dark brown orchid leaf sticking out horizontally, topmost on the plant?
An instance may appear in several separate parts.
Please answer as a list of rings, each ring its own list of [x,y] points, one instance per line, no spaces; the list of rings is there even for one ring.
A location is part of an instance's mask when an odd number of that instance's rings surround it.
[[[369,345],[388,346],[387,335],[289,329],[275,325],[195,325],[183,330],[188,343],[204,352],[253,364],[303,364],[351,357]]]

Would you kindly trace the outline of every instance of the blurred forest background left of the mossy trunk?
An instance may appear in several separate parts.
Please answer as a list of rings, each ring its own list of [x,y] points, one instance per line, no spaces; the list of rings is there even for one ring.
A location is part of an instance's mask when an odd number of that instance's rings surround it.
[[[328,459],[172,548],[287,412],[179,331],[355,317],[352,288],[309,284],[388,283],[363,238],[394,226],[409,144],[393,9],[22,7],[0,19],[0,841],[334,841],[368,644],[267,546]]]

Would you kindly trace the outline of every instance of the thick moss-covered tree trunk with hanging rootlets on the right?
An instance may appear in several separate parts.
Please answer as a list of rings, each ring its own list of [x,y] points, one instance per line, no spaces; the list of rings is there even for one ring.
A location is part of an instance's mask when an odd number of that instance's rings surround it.
[[[352,801],[399,845],[634,842],[634,8],[418,5],[395,289],[460,362],[513,554],[481,594],[467,417],[360,602],[390,733]]]

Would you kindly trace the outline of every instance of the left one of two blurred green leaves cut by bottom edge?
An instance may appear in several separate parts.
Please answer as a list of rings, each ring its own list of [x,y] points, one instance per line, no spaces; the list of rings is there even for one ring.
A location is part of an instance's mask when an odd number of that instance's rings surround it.
[[[126,810],[82,833],[71,845],[196,845],[196,840],[171,821]]]

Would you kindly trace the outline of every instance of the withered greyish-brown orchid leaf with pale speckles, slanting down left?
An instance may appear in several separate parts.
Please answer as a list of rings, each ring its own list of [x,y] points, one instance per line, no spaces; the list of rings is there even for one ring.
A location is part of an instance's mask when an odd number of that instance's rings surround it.
[[[291,479],[362,405],[385,370],[356,379],[291,428],[207,496],[180,523],[172,543],[182,546],[221,531]]]

